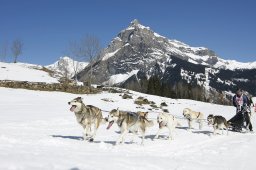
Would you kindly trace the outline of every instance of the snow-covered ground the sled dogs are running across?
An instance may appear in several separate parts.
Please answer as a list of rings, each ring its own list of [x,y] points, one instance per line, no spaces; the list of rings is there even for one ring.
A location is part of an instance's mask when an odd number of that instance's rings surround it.
[[[159,106],[165,101],[168,110],[177,117],[189,107],[208,114],[223,115],[227,119],[234,115],[235,108],[192,100],[174,100],[133,92],[133,99],[122,99],[120,94],[80,95],[86,104],[92,104],[108,111],[119,107],[122,110],[148,110],[149,106],[136,108],[134,99],[146,97]],[[198,130],[195,125],[187,131],[187,123],[180,119],[181,127],[176,129],[174,140],[164,137],[152,140],[158,125],[149,128],[145,145],[140,138],[130,143],[114,146],[119,135],[118,127],[101,125],[95,142],[82,140],[82,128],[69,111],[68,101],[78,95],[61,92],[41,92],[21,89],[0,88],[0,169],[111,169],[111,170],[254,170],[256,168],[256,135],[230,132],[229,136],[212,136],[212,127]],[[109,99],[113,102],[106,102]],[[160,111],[160,110],[159,110]],[[157,111],[149,113],[154,119]],[[107,115],[107,112],[104,112]],[[256,126],[255,117],[253,125]]]

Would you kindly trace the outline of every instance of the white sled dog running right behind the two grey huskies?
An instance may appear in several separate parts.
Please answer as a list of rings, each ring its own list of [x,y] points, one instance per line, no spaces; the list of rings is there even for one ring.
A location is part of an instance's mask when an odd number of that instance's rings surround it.
[[[169,129],[169,140],[173,140],[173,133],[177,125],[179,125],[177,119],[168,113],[159,113],[157,116],[157,123],[159,124],[159,130],[155,136],[155,139],[158,138],[161,129],[167,127]]]

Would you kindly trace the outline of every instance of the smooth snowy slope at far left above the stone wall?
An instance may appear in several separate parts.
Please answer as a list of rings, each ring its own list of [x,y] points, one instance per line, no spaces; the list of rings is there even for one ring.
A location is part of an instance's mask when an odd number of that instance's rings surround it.
[[[40,65],[0,62],[0,80],[58,83]]]

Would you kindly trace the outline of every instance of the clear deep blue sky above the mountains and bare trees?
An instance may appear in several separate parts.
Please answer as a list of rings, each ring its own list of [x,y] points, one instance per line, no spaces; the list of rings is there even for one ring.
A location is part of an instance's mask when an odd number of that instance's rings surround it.
[[[254,0],[0,0],[0,45],[21,39],[18,60],[47,65],[66,54],[68,42],[86,35],[106,47],[136,18],[169,39],[251,62],[255,7]]]

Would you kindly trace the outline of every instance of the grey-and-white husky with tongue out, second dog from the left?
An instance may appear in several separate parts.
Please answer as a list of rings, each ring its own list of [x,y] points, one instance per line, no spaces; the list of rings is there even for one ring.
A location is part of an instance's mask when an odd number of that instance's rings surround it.
[[[117,123],[121,130],[121,135],[117,139],[116,144],[124,143],[124,138],[129,131],[131,131],[133,135],[136,135],[140,130],[142,134],[141,144],[143,145],[146,128],[153,126],[153,121],[147,119],[146,112],[135,113],[120,111],[119,109],[110,111],[107,121],[109,122],[107,129],[109,129],[113,123]]]

